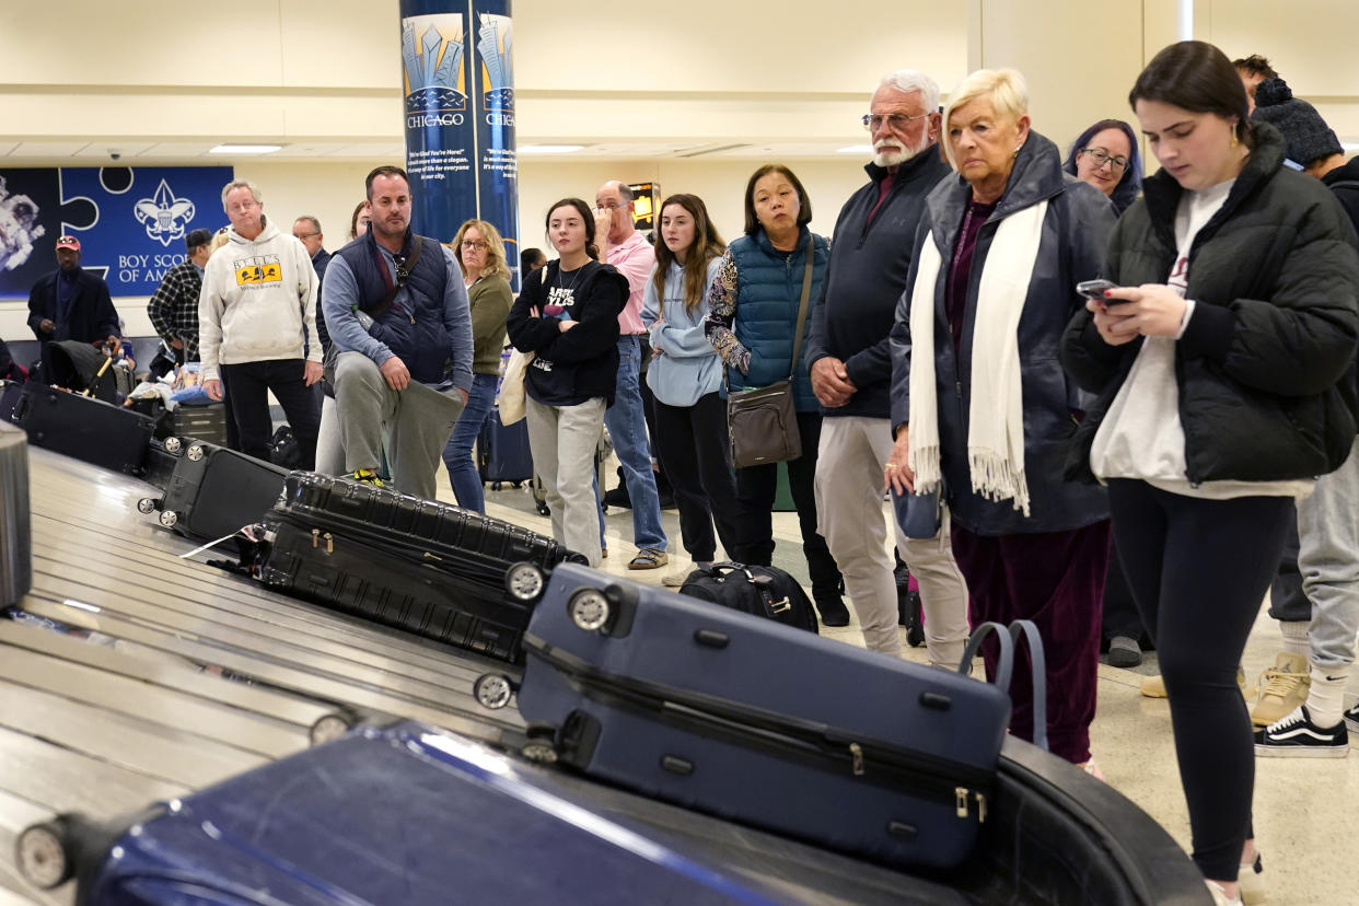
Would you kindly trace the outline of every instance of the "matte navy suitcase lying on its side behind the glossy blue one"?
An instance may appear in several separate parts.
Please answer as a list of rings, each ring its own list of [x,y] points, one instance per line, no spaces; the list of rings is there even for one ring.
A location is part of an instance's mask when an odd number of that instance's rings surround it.
[[[526,754],[896,865],[954,867],[985,820],[995,686],[576,565],[523,644]]]

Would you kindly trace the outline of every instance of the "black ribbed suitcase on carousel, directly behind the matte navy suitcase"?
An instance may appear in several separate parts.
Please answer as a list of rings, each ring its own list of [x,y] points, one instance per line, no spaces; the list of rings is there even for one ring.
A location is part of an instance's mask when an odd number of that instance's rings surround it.
[[[584,561],[477,512],[306,471],[264,524],[266,585],[514,663],[548,573]]]

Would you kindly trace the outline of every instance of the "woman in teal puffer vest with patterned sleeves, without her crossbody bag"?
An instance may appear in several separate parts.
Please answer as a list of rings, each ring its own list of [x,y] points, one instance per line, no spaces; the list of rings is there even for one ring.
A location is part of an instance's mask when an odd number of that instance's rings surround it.
[[[798,312],[802,333],[811,325],[811,299],[821,293],[830,244],[807,230],[811,201],[802,182],[783,164],[765,164],[746,183],[746,235],[727,249],[708,295],[705,333],[727,365],[727,387],[746,390],[787,380],[798,410],[802,456],[788,463],[788,489],[798,508],[802,551],[811,575],[811,598],[826,626],[847,626],[849,611],[840,598],[840,569],[826,539],[817,534],[817,446],[821,403],[802,350],[794,361]],[[803,304],[803,277],[810,261],[811,291]],[[745,543],[728,550],[735,560],[758,566],[773,557],[773,500],[779,466],[737,469],[737,505]]]

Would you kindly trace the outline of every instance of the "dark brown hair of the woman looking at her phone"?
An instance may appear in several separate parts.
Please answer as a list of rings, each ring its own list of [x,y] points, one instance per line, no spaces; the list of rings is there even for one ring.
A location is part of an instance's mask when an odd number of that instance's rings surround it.
[[[1250,145],[1246,88],[1227,54],[1211,43],[1181,41],[1162,49],[1128,92],[1133,110],[1139,101],[1159,101],[1227,121],[1235,118],[1237,139]]]

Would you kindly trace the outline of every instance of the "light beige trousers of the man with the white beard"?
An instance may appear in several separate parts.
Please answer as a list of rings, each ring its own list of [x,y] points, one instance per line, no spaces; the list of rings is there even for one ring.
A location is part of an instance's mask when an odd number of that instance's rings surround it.
[[[897,583],[882,512],[886,493],[882,470],[890,456],[889,420],[822,418],[817,451],[817,528],[845,579],[864,644],[900,656]],[[953,560],[947,513],[938,537],[912,539],[897,527],[896,539],[901,558],[920,583],[930,663],[957,670],[968,642],[968,585]]]

